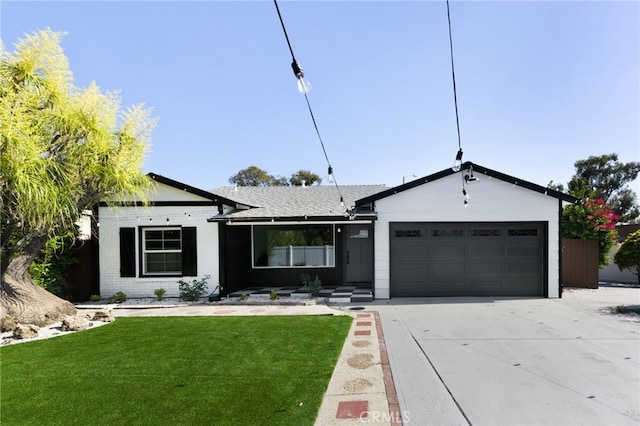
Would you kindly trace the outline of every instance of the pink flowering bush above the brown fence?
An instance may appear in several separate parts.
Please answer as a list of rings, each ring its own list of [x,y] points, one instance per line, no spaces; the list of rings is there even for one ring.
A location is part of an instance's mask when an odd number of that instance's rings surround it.
[[[616,222],[620,216],[602,198],[573,204],[562,212],[562,237],[598,240],[600,267],[609,264],[609,251],[616,243]]]

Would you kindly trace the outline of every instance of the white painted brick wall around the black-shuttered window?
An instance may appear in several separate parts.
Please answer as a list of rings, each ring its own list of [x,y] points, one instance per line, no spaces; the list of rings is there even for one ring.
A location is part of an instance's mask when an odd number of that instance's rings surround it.
[[[191,193],[158,184],[150,195],[153,201],[207,201]],[[164,288],[167,297],[177,297],[180,278],[120,277],[120,228],[136,228],[136,271],[139,270],[138,250],[140,226],[196,227],[198,276],[185,277],[186,281],[210,275],[208,292],[219,285],[218,225],[207,218],[217,213],[216,206],[170,207],[100,207],[98,212],[100,295],[104,298],[118,291],[127,297],[154,297],[153,291]],[[169,221],[167,222],[167,219]]]

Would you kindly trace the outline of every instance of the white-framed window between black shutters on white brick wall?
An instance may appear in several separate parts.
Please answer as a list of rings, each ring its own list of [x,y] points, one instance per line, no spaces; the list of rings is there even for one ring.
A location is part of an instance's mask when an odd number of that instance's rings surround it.
[[[145,275],[182,274],[182,229],[142,230],[142,269]]]

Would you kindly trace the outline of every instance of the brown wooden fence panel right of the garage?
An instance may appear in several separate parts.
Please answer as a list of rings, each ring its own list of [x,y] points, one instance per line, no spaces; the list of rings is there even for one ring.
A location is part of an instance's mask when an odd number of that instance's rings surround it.
[[[598,288],[598,241],[562,240],[562,286]]]

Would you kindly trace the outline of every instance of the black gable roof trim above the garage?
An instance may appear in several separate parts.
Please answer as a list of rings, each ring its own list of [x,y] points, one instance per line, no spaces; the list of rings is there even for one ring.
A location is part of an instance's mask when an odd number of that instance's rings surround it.
[[[572,197],[571,195],[565,194],[563,192],[559,192],[559,191],[555,191],[553,189],[545,188],[544,186],[536,185],[535,183],[527,182],[526,180],[518,179],[517,177],[509,176],[509,175],[506,175],[504,173],[500,173],[498,171],[489,169],[489,168],[481,166],[479,164],[472,163],[470,161],[465,162],[461,167],[461,171],[458,172],[458,173],[464,173],[465,170],[469,170],[470,167],[473,167],[474,175],[491,176],[492,178],[502,180],[502,181],[510,183],[512,185],[521,186],[521,187],[529,189],[531,191],[535,191],[535,192],[538,192],[540,194],[544,194],[544,195],[547,195],[549,197],[554,197],[554,198],[557,198],[559,200],[566,201],[566,202],[569,202],[569,203],[577,203],[579,201],[577,198]],[[356,201],[356,208],[362,207],[362,206],[366,206],[367,204],[370,204],[370,203],[375,202],[377,200],[380,200],[382,198],[386,198],[386,197],[392,196],[394,194],[406,191],[408,189],[415,188],[417,186],[424,185],[424,184],[427,184],[429,182],[433,182],[435,180],[438,180],[438,179],[441,179],[443,177],[452,175],[454,173],[456,173],[456,172],[454,172],[451,168],[447,168],[445,170],[439,171],[439,172],[431,174],[429,176],[418,178],[416,180],[413,180],[411,182],[405,183],[403,185],[396,186],[394,188],[389,188],[389,189],[387,189],[385,191],[381,191],[381,192],[378,192],[376,194],[372,194],[372,195],[370,195],[368,197],[364,197],[364,198],[358,199]]]

